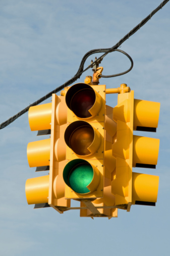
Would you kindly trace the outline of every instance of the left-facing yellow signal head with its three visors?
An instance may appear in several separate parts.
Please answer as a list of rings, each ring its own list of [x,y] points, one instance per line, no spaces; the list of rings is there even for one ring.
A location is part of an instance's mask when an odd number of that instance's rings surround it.
[[[64,132],[67,127],[67,106],[65,96],[52,94],[52,103],[30,107],[29,125],[37,135],[50,134],[50,138],[28,143],[27,157],[30,167],[36,171],[49,171],[49,175],[26,181],[28,204],[35,208],[51,206],[63,213],[70,207],[65,199],[63,169],[66,165],[66,143]]]

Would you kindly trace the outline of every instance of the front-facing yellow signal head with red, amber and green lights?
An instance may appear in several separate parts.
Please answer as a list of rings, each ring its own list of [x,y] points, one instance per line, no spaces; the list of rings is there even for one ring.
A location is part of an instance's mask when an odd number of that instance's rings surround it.
[[[66,104],[65,197],[102,197],[105,85],[75,84],[67,91]]]

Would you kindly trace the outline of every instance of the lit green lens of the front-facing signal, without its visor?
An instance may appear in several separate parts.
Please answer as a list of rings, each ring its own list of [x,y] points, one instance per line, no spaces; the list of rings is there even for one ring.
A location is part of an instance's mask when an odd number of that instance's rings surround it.
[[[93,179],[93,168],[90,164],[82,163],[77,165],[70,173],[69,185],[80,194],[88,193],[90,190],[87,186]]]

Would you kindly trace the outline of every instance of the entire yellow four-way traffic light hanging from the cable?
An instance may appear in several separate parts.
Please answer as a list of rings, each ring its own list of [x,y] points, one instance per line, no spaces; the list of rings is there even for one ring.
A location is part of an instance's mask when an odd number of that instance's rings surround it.
[[[31,107],[29,124],[37,135],[27,157],[36,171],[48,175],[26,181],[28,204],[50,206],[59,213],[79,209],[80,217],[118,217],[132,204],[154,206],[158,176],[133,172],[157,164],[159,140],[133,131],[155,132],[160,104],[134,99],[126,84],[106,89],[98,84],[101,68],[85,83],[66,87],[52,103]],[[119,93],[115,108],[105,105],[106,93]],[[80,207],[71,208],[71,199]]]

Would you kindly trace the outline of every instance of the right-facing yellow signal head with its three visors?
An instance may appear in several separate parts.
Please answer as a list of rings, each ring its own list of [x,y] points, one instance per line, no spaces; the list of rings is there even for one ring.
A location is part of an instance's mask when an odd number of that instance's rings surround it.
[[[132,172],[132,167],[156,167],[159,139],[133,135],[133,131],[156,132],[159,109],[159,103],[134,99],[134,91],[118,95],[113,111],[117,134],[112,145],[116,168],[111,182],[118,208],[130,211],[132,204],[155,205],[159,177]]]

